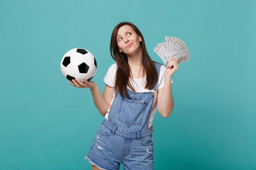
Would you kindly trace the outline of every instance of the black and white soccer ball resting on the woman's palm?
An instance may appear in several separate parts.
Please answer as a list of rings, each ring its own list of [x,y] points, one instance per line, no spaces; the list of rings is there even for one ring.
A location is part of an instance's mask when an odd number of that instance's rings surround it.
[[[71,49],[67,51],[61,60],[61,72],[68,80],[83,78],[90,81],[97,71],[97,62],[88,50]]]

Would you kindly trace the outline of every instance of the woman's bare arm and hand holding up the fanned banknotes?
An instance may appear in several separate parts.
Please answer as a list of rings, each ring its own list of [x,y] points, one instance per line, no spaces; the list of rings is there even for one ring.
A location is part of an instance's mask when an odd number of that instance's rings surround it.
[[[164,73],[164,88],[160,88],[157,92],[157,110],[162,117],[168,117],[173,110],[173,94],[171,90],[171,77],[175,71],[179,69],[178,59],[172,58],[168,63]]]

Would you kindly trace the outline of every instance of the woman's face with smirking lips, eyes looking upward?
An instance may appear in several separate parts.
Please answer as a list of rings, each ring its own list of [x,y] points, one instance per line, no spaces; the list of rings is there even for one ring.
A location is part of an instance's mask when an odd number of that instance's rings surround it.
[[[141,49],[139,42],[141,38],[129,25],[121,26],[117,32],[117,46],[119,51],[126,54],[132,54]]]

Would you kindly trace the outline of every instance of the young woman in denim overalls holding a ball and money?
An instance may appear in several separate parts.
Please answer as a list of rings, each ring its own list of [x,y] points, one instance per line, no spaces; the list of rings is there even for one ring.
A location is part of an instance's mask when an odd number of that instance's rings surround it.
[[[168,117],[173,110],[172,75],[178,70],[172,58],[167,68],[150,59],[144,38],[134,24],[115,26],[110,54],[116,61],[108,69],[103,95],[95,82],[69,81],[90,88],[94,103],[105,118],[85,159],[92,170],[153,169],[153,116]]]

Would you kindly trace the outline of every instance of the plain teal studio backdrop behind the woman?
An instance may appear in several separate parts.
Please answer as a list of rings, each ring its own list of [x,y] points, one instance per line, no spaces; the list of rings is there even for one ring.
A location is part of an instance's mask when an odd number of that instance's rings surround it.
[[[165,36],[190,52],[172,77],[171,116],[153,120],[154,169],[256,170],[254,0],[1,0],[0,170],[91,169],[84,157],[103,117],[60,62],[88,49],[103,93],[122,21],[138,26],[157,62]]]

